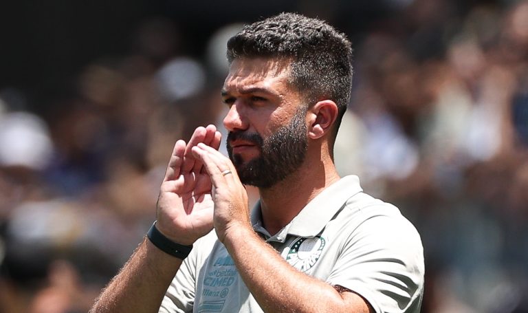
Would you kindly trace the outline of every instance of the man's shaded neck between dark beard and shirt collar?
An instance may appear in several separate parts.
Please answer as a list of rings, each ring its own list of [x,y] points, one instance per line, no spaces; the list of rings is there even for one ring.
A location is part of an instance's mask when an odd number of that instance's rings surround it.
[[[262,221],[274,235],[325,188],[340,179],[331,158],[307,159],[297,171],[271,188],[259,188]]]

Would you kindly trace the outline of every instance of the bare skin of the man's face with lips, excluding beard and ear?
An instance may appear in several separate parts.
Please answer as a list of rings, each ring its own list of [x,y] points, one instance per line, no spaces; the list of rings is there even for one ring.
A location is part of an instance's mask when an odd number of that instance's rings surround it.
[[[289,88],[287,64],[264,58],[233,61],[221,91],[223,102],[230,108],[223,119],[225,129],[259,133],[266,138],[288,122],[300,96]],[[259,147],[245,140],[228,144],[245,161],[260,153]]]

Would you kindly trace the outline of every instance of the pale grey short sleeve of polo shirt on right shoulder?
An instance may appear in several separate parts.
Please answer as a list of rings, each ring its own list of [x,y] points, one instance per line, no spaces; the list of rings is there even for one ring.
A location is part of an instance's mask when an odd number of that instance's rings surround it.
[[[423,274],[415,227],[399,212],[380,213],[353,230],[327,282],[360,294],[377,313],[410,313],[419,312]]]

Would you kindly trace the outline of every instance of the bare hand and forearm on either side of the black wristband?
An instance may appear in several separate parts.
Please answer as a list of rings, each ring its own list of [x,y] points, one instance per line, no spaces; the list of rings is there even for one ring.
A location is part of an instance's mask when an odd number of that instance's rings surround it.
[[[176,142],[157,201],[156,228],[182,245],[193,244],[212,229],[212,185],[191,153],[199,142],[218,149],[220,133],[212,125],[199,127],[188,144]],[[90,312],[158,312],[181,263],[144,239]]]

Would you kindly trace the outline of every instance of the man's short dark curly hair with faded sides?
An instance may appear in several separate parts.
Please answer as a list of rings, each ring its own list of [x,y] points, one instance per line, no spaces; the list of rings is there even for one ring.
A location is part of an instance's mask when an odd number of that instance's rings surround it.
[[[281,13],[250,25],[228,41],[228,61],[237,58],[292,60],[290,83],[307,104],[322,98],[338,105],[336,133],[350,100],[352,47],[347,36],[319,19]]]

